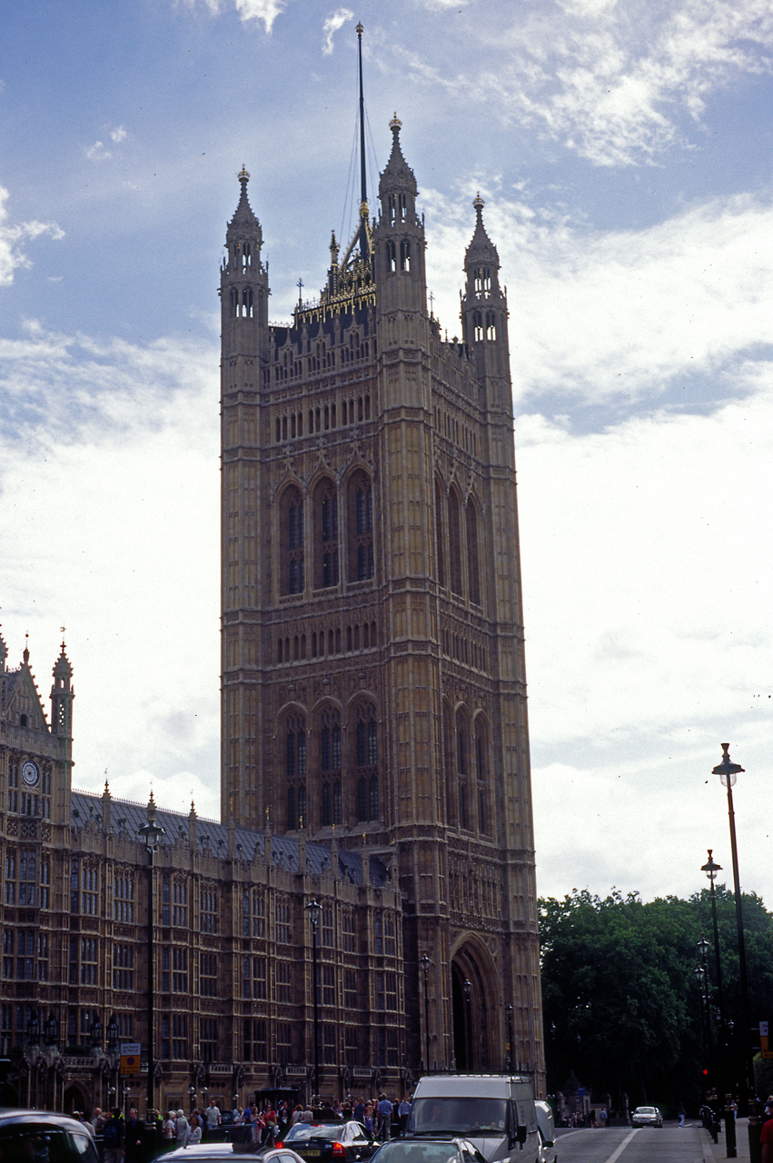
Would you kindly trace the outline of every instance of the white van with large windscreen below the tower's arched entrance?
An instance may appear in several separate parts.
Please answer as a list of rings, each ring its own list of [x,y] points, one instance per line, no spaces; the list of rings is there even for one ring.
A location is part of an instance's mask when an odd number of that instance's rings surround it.
[[[407,1135],[468,1139],[487,1163],[539,1163],[531,1084],[518,1075],[427,1075]]]

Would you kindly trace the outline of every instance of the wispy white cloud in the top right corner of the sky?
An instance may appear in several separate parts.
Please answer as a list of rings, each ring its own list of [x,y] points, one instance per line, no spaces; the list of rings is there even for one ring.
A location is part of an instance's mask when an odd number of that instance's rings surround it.
[[[477,38],[484,55],[478,70],[452,74],[415,51],[398,51],[446,95],[484,104],[596,165],[653,160],[675,142],[687,144],[688,124],[700,120],[711,93],[744,74],[770,73],[773,62],[767,0],[740,7],[735,0],[525,0],[509,28],[478,21],[465,26],[465,36]]]

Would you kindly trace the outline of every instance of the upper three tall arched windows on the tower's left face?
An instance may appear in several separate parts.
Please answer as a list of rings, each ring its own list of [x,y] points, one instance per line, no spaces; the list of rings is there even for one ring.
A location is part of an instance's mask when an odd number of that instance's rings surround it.
[[[358,470],[342,492],[348,578],[350,582],[366,582],[374,575],[373,490],[370,477]],[[313,564],[312,585],[315,590],[336,586],[339,580],[339,495],[334,481],[325,477],[314,487],[309,499],[312,520],[308,529],[306,504],[294,485],[285,490],[279,501],[279,576],[284,594],[305,591],[308,557]]]

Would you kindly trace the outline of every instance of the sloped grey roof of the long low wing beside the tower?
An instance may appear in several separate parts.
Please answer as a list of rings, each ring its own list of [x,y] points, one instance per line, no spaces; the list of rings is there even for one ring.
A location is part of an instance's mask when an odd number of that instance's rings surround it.
[[[73,791],[72,826],[84,828],[88,822],[94,822],[101,827],[102,823],[102,798],[88,792]],[[130,839],[139,839],[139,828],[148,822],[145,807],[142,804],[133,804],[131,800],[115,799],[110,797],[110,822],[115,835],[127,835]],[[181,812],[170,812],[166,808],[156,811],[156,822],[164,829],[162,844],[173,844],[188,842],[188,818]],[[265,852],[265,833],[251,832],[249,828],[236,829],[236,857],[244,861],[262,861]],[[212,856],[226,859],[228,856],[228,827],[216,820],[206,820],[196,816],[196,847],[201,852],[209,852]],[[299,871],[299,842],[294,836],[271,836],[271,852],[277,868],[284,868],[288,872]],[[330,869],[330,848],[315,841],[306,842],[306,871],[313,876],[320,876]],[[338,875],[348,877],[352,884],[363,883],[363,857],[359,851],[338,849]],[[381,887],[388,883],[385,864],[377,857],[370,858],[370,882],[375,887]]]

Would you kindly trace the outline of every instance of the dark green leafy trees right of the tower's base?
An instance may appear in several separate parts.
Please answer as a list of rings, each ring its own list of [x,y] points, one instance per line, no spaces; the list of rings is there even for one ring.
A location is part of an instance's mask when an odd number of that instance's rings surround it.
[[[715,887],[730,1079],[745,1076],[738,935],[732,892]],[[759,1021],[773,1023],[773,914],[743,893],[752,1047]],[[645,902],[613,890],[601,899],[574,891],[541,898],[541,961],[550,1093],[572,1072],[588,1093],[609,1093],[613,1107],[654,1103],[693,1108],[721,1083],[722,1033],[711,898]],[[704,936],[707,989],[695,969]],[[773,1029],[773,1025],[772,1025]],[[756,1068],[757,1069],[757,1068]]]

